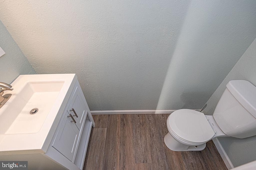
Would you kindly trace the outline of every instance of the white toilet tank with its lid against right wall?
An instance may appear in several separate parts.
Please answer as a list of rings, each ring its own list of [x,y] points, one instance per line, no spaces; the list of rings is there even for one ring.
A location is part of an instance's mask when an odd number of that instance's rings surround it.
[[[256,87],[246,80],[231,80],[218,102],[213,117],[231,137],[256,135]]]

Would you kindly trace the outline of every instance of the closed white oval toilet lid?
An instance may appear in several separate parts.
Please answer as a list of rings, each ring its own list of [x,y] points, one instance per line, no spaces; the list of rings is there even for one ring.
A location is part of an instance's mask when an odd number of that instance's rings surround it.
[[[205,143],[215,134],[204,113],[195,110],[176,110],[170,114],[168,123],[177,137],[190,143]]]

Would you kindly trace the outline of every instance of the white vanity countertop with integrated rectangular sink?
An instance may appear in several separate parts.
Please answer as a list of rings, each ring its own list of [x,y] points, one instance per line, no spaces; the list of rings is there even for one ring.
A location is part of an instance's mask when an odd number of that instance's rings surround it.
[[[10,99],[0,108],[0,154],[3,151],[46,151],[64,112],[75,74],[20,75],[11,84]],[[35,114],[30,111],[37,108]],[[49,141],[47,140],[49,139]]]

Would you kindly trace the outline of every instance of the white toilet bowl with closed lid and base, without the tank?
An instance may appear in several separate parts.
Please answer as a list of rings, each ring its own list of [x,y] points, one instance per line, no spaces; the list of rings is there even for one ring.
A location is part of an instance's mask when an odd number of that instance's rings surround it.
[[[174,111],[168,116],[166,125],[169,133],[164,142],[174,151],[200,151],[211,139],[226,136],[213,116],[190,109]]]

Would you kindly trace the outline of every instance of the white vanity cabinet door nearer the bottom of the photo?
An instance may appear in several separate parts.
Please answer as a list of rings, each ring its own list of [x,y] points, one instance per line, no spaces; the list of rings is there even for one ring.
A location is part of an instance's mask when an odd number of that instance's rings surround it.
[[[76,152],[79,130],[75,123],[71,122],[72,118],[68,117],[68,115],[69,114],[66,112],[52,147],[72,162]]]

